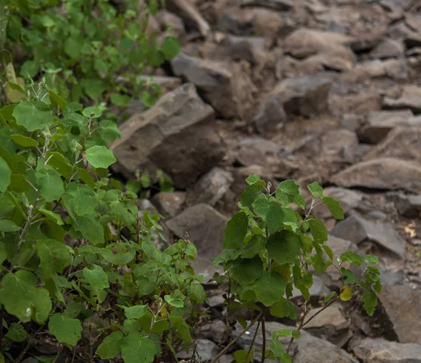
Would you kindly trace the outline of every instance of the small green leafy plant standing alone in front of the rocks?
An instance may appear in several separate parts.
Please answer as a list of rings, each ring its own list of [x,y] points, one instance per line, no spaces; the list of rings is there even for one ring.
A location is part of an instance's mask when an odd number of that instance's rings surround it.
[[[347,251],[336,256],[336,265],[332,250],[325,244],[328,230],[322,220],[311,214],[316,206],[325,204],[334,218],[343,219],[338,201],[325,197],[323,188],[315,182],[308,185],[312,202],[306,209],[305,199],[294,180],[284,180],[274,192],[271,192],[272,185],[257,175],[251,174],[246,182],[239,213],[228,221],[224,232],[225,251],[214,262],[222,263],[225,268],[225,276],[215,274],[214,279],[227,283],[228,312],[234,315],[239,308],[248,308],[260,312],[263,319],[263,312],[269,310],[275,317],[297,319],[295,306],[290,302],[293,290],[298,289],[308,301],[314,272],[321,274],[333,265],[340,272],[343,286],[339,295],[335,291],[328,294],[325,303],[338,299],[349,301],[353,291],[361,288],[364,308],[368,315],[373,315],[377,305],[375,293],[381,290],[380,271],[375,267],[379,262],[377,257],[366,255],[363,260],[358,253]],[[298,206],[301,213],[295,212],[290,204]],[[360,273],[354,273],[352,265],[358,266],[354,272]],[[246,329],[246,321],[239,317],[237,320]],[[299,338],[304,325],[305,322],[297,330],[281,329],[272,334],[270,352],[265,352],[262,361],[268,355],[290,362],[288,350],[279,337]],[[237,362],[252,361],[251,348],[248,352],[236,352]]]

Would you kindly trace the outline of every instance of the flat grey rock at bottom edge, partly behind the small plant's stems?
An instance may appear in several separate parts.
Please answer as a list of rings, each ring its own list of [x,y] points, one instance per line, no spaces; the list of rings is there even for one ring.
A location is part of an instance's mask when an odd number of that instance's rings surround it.
[[[323,314],[323,313],[322,313]],[[257,324],[252,326],[247,334],[243,334],[239,338],[238,343],[242,349],[248,350],[250,343],[255,334]],[[266,330],[266,349],[269,348],[269,341],[272,338],[272,332],[279,329],[290,329],[290,326],[280,324],[278,322],[267,322],[265,324]],[[235,330],[232,332],[234,337],[243,331],[240,324],[236,324]],[[280,339],[283,346],[288,347],[290,338],[283,337]],[[255,338],[255,352],[262,350],[263,336],[261,329]],[[258,353],[257,353],[258,354]],[[306,331],[301,331],[300,339],[293,342],[293,348],[290,352],[293,363],[309,363],[309,362],[323,362],[323,363],[358,363],[356,359],[351,357],[345,350],[338,348],[336,345],[320,338],[316,338]],[[260,355],[257,355],[260,357]]]

